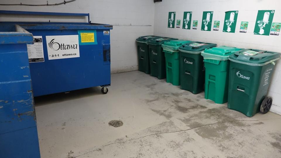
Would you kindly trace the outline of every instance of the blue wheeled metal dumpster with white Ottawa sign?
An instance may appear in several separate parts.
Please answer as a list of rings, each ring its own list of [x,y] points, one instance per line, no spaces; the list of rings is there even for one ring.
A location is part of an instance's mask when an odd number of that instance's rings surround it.
[[[34,36],[35,43],[28,45],[34,96],[95,86],[101,86],[103,94],[108,92],[112,25],[90,23],[88,13],[0,13],[88,16],[88,23],[14,23]]]

